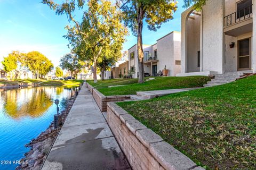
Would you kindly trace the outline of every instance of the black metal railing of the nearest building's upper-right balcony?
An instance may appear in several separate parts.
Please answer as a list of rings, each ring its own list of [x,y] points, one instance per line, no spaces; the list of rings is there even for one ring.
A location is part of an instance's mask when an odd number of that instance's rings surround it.
[[[252,17],[252,5],[224,17],[224,27]]]

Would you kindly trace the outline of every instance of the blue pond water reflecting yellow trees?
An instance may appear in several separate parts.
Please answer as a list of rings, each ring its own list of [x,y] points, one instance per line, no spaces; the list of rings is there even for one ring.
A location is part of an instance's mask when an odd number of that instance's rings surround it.
[[[0,169],[18,166],[13,161],[29,151],[25,145],[53,121],[54,100],[60,100],[62,111],[74,94],[74,89],[64,87],[0,89]]]

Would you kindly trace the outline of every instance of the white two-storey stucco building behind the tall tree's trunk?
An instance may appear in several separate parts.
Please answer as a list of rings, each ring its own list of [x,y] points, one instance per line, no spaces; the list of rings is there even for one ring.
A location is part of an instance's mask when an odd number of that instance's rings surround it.
[[[138,77],[138,55],[137,44],[128,49],[129,70],[133,78]],[[151,76],[157,75],[166,66],[169,70],[168,76],[175,76],[180,73],[180,32],[172,31],[157,40],[154,45],[143,45],[144,72]]]

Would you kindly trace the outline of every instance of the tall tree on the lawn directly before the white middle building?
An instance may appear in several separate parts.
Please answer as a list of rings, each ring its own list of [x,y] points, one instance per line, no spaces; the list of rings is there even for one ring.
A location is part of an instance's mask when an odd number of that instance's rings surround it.
[[[177,10],[175,0],[121,0],[121,9],[126,14],[125,24],[137,36],[137,50],[139,63],[139,83],[144,82],[142,28],[143,22],[147,23],[149,30],[156,31],[162,23],[173,19]]]

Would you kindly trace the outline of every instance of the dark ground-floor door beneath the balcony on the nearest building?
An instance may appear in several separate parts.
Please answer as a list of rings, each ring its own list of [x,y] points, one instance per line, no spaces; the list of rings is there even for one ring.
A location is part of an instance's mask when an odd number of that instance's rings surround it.
[[[251,70],[251,38],[238,41],[239,70]]]

